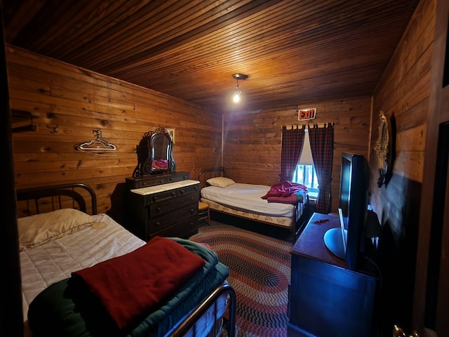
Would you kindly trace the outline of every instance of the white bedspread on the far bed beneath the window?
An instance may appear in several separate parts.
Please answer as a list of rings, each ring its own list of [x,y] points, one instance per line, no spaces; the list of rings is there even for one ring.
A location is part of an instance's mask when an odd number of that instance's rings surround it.
[[[268,202],[262,199],[270,188],[265,185],[242,183],[235,183],[225,188],[207,186],[201,189],[201,197],[243,211],[291,218],[295,210],[292,204]]]

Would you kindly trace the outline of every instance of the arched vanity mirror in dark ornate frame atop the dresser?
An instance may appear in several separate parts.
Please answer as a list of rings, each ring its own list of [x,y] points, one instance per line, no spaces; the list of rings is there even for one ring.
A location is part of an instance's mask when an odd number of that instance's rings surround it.
[[[138,165],[134,169],[133,177],[176,171],[173,141],[165,128],[156,128],[155,131],[144,133],[136,152]]]

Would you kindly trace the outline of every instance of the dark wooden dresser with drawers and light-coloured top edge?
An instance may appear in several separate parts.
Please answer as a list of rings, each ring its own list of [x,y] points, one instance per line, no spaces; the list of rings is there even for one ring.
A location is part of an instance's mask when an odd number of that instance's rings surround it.
[[[199,181],[190,180],[189,173],[147,178],[126,181],[128,230],[145,241],[154,236],[187,238],[198,232]]]

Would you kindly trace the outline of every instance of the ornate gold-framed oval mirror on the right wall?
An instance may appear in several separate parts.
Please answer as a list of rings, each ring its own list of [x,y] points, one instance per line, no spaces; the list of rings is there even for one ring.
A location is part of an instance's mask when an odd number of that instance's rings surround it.
[[[377,180],[377,186],[387,185],[389,178],[391,177],[391,164],[392,164],[392,152],[391,142],[392,133],[389,119],[383,111],[379,114],[380,124],[378,131],[378,138],[375,145],[375,152],[377,153],[377,166],[379,169],[379,180]]]

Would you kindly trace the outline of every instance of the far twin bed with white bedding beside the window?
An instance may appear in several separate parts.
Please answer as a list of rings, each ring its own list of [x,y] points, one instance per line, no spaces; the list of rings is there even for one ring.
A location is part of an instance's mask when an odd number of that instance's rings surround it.
[[[236,183],[226,177],[222,167],[201,170],[198,180],[201,201],[213,211],[283,227],[293,233],[307,201],[307,187],[298,184],[290,186],[294,193],[288,193],[288,197],[262,199],[275,186]]]

